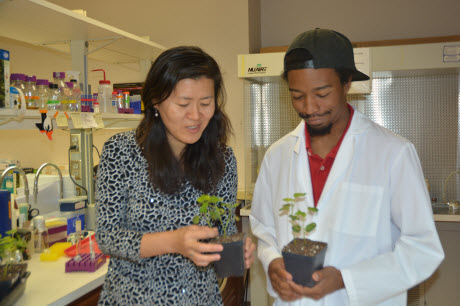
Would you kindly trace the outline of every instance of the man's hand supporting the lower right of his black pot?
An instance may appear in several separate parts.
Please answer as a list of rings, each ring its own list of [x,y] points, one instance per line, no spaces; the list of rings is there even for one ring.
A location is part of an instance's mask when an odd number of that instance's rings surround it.
[[[343,284],[342,273],[334,267],[325,267],[313,273],[312,278],[316,285],[312,288],[290,282],[291,289],[300,296],[319,300],[336,290],[345,287]]]

